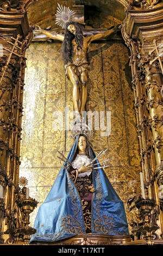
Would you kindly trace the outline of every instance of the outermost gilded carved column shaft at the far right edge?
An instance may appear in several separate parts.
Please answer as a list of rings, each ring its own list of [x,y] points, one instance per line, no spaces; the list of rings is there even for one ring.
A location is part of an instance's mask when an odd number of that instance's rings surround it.
[[[154,65],[155,64],[155,65]],[[147,104],[149,109],[149,124],[153,135],[153,146],[156,159],[156,176],[163,182],[163,112],[161,87],[163,76],[158,63],[154,63],[146,74]]]

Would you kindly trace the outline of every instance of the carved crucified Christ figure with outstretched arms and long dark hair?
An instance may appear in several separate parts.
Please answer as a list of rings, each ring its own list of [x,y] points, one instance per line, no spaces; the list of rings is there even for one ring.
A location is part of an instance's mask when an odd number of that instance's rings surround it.
[[[65,35],[36,26],[35,32],[45,34],[51,39],[62,41],[62,57],[64,59],[66,76],[73,84],[74,111],[82,116],[87,99],[87,77],[89,63],[87,51],[92,41],[106,39],[117,32],[117,27],[109,29],[85,29],[78,22],[67,22]]]

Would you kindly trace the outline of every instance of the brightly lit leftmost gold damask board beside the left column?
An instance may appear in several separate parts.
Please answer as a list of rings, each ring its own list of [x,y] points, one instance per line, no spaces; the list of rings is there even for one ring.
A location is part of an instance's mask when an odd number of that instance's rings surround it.
[[[44,50],[43,50],[44,49]],[[45,52],[44,52],[45,51]],[[37,167],[42,161],[43,117],[47,80],[48,44],[32,45],[27,53],[23,101],[21,167]],[[37,65],[41,63],[41,65]]]

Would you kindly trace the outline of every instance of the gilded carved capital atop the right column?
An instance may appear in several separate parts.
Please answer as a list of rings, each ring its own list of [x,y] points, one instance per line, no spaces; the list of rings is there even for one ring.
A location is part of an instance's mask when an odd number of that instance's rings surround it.
[[[154,47],[153,40],[161,42],[163,4],[158,2],[158,0],[133,0],[134,8],[128,9],[122,31],[123,35],[126,35],[126,42],[130,42],[129,47],[133,48],[133,52],[135,46],[130,40],[135,40],[136,44],[140,42],[137,50],[147,56]]]

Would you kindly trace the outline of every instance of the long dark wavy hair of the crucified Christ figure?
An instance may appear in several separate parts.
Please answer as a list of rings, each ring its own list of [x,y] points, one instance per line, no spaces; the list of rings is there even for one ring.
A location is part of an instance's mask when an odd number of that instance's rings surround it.
[[[67,27],[73,24],[76,27],[76,35],[68,31]],[[64,59],[64,63],[72,62],[73,51],[72,51],[72,40],[75,38],[75,41],[78,45],[78,48],[83,48],[83,25],[80,25],[77,22],[67,22],[65,27],[65,37],[62,43],[61,52]]]

